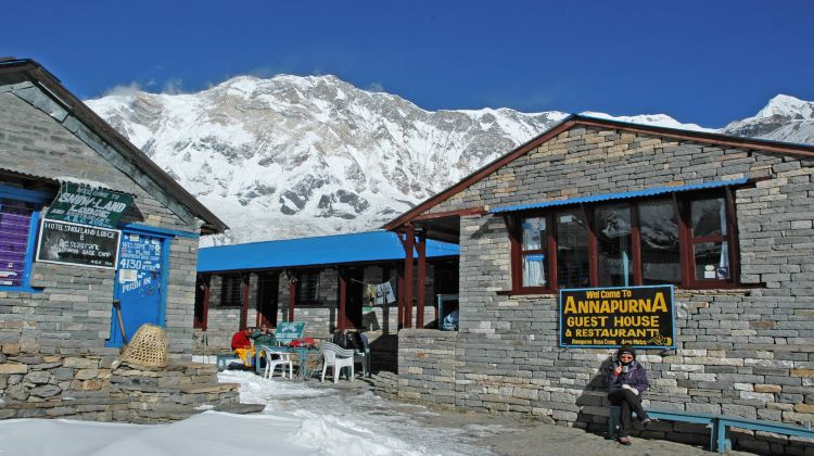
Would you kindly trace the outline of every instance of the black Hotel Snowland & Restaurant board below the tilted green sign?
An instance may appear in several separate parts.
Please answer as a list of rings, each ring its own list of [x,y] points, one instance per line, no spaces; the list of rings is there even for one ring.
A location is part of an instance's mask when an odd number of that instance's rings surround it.
[[[122,231],[42,220],[37,261],[115,269]]]

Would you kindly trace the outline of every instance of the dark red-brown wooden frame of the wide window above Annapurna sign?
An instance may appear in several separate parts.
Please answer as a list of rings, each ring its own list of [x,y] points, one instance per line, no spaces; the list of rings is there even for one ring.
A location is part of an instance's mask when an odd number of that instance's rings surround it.
[[[676,218],[678,221],[678,253],[681,280],[676,287],[683,289],[732,289],[741,287],[739,245],[737,238],[737,213],[735,206],[735,189],[730,186],[692,190],[684,192],[672,192],[666,194],[653,195],[648,198],[637,198],[629,200],[607,200],[590,204],[562,204],[545,210],[531,210],[506,215],[505,220],[509,229],[511,242],[511,294],[549,294],[557,293],[559,290],[559,278],[557,277],[557,226],[556,217],[565,212],[582,210],[583,217],[588,227],[588,261],[589,261],[589,282],[592,288],[600,288],[598,274],[598,242],[596,226],[596,210],[609,205],[627,205],[631,211],[631,242],[632,242],[632,261],[633,264],[633,287],[643,286],[643,266],[641,266],[641,230],[639,219],[639,204],[653,201],[672,201],[676,208]],[[729,278],[728,279],[696,279],[695,265],[695,245],[700,242],[712,242],[711,237],[694,237],[691,227],[690,207],[694,201],[723,198],[726,211],[726,232],[715,235],[715,242],[726,241],[728,244],[729,259]],[[547,240],[542,241],[547,251],[546,262],[546,287],[523,287],[523,254],[537,253],[537,251],[522,250],[522,225],[525,218],[545,218]],[[720,238],[720,239],[718,239]],[[609,286],[610,287],[610,286]]]

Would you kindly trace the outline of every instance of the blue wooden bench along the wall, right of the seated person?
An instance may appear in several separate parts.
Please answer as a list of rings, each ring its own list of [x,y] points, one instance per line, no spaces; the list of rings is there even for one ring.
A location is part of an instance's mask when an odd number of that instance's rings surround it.
[[[779,421],[681,410],[648,409],[647,414],[652,419],[695,422],[710,427],[711,452],[717,451],[718,453],[724,453],[732,451],[732,441],[729,440],[729,431],[732,428],[814,439],[814,429],[811,429],[811,427],[806,428]]]

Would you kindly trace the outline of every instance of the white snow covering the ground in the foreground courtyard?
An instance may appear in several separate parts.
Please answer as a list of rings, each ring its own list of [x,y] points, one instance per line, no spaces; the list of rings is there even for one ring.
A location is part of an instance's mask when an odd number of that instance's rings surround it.
[[[314,380],[267,380],[244,371],[218,377],[241,384],[241,402],[267,404],[264,413],[208,410],[160,426],[5,420],[0,421],[0,455],[489,455],[472,442],[507,430],[425,426],[421,417],[436,414],[424,407],[386,401],[366,390],[318,387]]]

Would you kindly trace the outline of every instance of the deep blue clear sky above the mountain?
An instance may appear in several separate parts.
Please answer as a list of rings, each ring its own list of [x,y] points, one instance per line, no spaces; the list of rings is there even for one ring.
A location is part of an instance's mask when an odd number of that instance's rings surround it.
[[[814,100],[810,1],[2,3],[0,55],[81,98],[334,74],[421,107],[665,113],[708,127]]]

